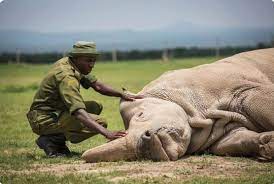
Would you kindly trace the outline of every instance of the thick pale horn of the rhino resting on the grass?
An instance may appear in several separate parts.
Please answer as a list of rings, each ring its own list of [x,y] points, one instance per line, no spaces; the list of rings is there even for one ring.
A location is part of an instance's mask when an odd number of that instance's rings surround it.
[[[136,159],[134,149],[129,147],[126,137],[97,146],[83,153],[86,162],[118,161]]]

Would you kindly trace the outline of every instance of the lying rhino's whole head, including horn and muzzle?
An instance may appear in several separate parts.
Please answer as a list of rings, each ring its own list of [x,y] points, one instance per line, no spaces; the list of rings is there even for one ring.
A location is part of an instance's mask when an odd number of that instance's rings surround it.
[[[144,98],[121,101],[120,112],[128,134],[87,150],[87,162],[152,159],[177,160],[183,156],[191,138],[188,116],[177,104]]]

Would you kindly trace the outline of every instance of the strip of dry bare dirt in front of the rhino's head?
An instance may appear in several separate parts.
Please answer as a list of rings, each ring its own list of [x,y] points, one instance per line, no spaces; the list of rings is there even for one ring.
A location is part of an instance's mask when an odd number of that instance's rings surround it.
[[[273,164],[269,163],[273,169]],[[32,169],[17,171],[24,174],[34,172],[65,174],[98,174],[107,177],[109,181],[117,182],[124,179],[141,177],[188,178],[208,176],[213,178],[233,178],[243,174],[252,175],[250,171],[256,169],[263,174],[269,167],[250,159],[217,157],[217,156],[191,156],[175,162],[101,162],[73,164],[47,164],[33,165]],[[270,167],[270,168],[271,168]]]

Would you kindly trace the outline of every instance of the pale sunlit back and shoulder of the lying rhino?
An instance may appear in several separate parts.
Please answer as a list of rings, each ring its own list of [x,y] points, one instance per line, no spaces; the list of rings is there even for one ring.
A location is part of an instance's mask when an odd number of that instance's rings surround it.
[[[272,84],[273,53],[274,49],[263,49],[237,54],[212,64],[168,71],[146,85],[140,94],[168,99],[177,93],[181,96],[179,100],[188,101],[198,111],[206,111],[217,101],[233,98],[241,88]]]

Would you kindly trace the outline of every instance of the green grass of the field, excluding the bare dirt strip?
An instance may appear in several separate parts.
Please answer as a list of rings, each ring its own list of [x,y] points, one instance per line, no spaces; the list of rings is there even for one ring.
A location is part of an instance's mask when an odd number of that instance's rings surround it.
[[[179,68],[189,68],[200,64],[211,63],[215,58],[193,58],[173,60],[163,63],[161,61],[138,61],[121,63],[97,63],[94,74],[97,78],[116,89],[124,87],[132,92],[138,92],[148,82],[157,78],[163,72]],[[98,135],[80,144],[69,144],[74,156],[71,158],[45,157],[43,151],[34,144],[37,135],[32,133],[26,119],[32,98],[43,76],[50,65],[12,64],[0,65],[0,182],[1,183],[107,183],[106,177],[124,176],[125,173],[115,172],[102,174],[64,174],[38,172],[27,174],[21,171],[35,169],[35,165],[77,164],[81,162],[83,151],[98,146],[106,140]],[[96,100],[104,105],[102,116],[108,120],[112,130],[123,129],[119,114],[119,99],[106,97],[93,90],[81,91],[85,100]],[[127,163],[103,163],[102,167]],[[153,163],[152,163],[153,164]],[[192,163],[195,164],[195,163]],[[207,163],[208,164],[208,163]],[[271,165],[273,168],[273,165]],[[257,171],[255,169],[255,171]],[[255,172],[253,171],[253,172]],[[175,174],[188,175],[191,171],[178,169]],[[274,181],[273,174],[256,176],[254,183],[268,183]],[[161,183],[167,181],[180,183],[180,180],[163,177],[137,178],[122,180],[121,183]],[[208,182],[207,182],[208,181]],[[193,183],[228,183],[230,180],[214,178],[193,178]],[[234,183],[248,183],[249,178],[236,179]],[[186,182],[191,182],[187,180]],[[192,182],[191,182],[192,183]]]

